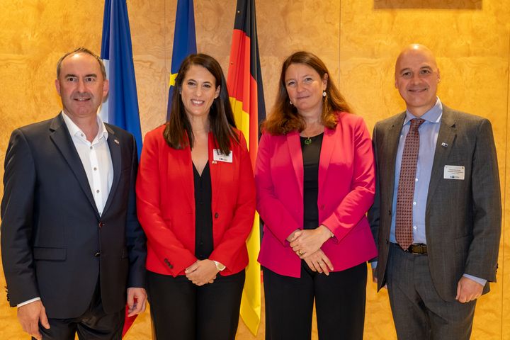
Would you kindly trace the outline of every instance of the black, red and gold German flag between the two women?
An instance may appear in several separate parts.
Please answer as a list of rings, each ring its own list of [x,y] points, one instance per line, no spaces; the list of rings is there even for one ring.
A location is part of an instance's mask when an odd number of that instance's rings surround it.
[[[254,0],[237,0],[227,87],[236,125],[246,137],[253,166],[259,146],[259,123],[266,118]],[[261,275],[257,262],[259,221],[256,213],[254,227],[246,241],[249,265],[241,300],[241,317],[254,335],[259,329],[261,314]]]

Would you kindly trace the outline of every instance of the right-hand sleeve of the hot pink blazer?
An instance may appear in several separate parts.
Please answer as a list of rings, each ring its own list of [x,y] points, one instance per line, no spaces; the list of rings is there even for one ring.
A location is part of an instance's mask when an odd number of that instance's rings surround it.
[[[372,140],[361,118],[356,120],[353,128],[354,169],[351,191],[341,200],[334,212],[322,222],[333,232],[336,242],[343,239],[353,227],[358,225],[374,200],[375,169]]]

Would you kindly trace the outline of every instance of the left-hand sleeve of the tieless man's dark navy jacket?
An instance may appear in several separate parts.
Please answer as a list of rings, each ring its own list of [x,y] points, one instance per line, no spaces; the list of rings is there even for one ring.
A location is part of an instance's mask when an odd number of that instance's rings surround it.
[[[39,296],[33,262],[35,163],[21,130],[9,140],[1,203],[1,257],[11,307]]]

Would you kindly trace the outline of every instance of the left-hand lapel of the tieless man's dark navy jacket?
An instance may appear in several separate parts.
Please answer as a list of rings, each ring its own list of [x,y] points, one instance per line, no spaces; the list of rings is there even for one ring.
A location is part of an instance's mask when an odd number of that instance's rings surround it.
[[[69,135],[69,130],[67,130],[67,126],[64,123],[62,113],[57,115],[50,124],[50,139],[55,143],[55,146],[59,149],[67,164],[69,164],[69,168],[73,172],[74,176],[76,176],[81,190],[89,200],[89,203],[92,207],[94,207],[96,213],[99,214],[96,203],[94,202],[94,197],[92,197],[92,191],[89,186],[89,180],[87,179],[85,169],[81,163],[79,154],[74,147],[71,136]]]

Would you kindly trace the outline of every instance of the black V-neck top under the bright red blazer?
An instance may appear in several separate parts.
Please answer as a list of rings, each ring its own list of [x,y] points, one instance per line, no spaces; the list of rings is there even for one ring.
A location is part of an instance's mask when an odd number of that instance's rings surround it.
[[[193,164],[193,182],[195,184],[195,256],[199,260],[205,260],[214,249],[209,162],[205,164],[202,176],[198,174]]]

